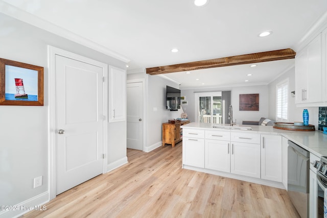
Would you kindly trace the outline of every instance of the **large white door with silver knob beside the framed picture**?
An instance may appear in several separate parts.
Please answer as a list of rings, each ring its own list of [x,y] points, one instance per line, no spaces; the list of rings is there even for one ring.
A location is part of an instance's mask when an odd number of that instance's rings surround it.
[[[58,195],[103,173],[103,68],[59,55],[55,64]]]

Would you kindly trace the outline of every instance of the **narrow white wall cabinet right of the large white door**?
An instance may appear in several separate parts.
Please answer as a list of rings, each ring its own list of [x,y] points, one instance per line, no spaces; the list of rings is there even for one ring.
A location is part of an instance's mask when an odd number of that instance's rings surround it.
[[[126,70],[109,66],[109,122],[126,120]]]

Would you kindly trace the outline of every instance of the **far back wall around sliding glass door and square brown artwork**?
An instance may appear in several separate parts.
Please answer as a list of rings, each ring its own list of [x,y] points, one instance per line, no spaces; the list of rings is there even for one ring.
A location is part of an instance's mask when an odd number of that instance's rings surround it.
[[[203,88],[203,89],[185,89],[181,90],[181,95],[184,95],[188,101],[187,106],[183,106],[183,110],[188,114],[191,122],[195,122],[195,97],[194,92],[203,91],[227,91],[230,90],[230,100],[233,108],[233,122],[242,124],[243,120],[259,121],[261,117],[268,117],[268,86],[240,86],[240,87],[217,87],[217,88]],[[239,110],[239,96],[240,94],[256,94],[259,93],[259,111],[240,111]]]

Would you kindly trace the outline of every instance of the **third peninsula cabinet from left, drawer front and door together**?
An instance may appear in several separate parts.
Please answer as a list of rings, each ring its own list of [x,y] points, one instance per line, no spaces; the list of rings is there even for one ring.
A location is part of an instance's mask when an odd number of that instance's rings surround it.
[[[230,173],[260,178],[260,134],[231,132]]]

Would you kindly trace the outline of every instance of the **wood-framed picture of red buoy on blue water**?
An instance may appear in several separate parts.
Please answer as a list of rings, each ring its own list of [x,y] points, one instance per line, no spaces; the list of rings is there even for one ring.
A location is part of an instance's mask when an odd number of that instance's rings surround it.
[[[0,105],[43,106],[43,67],[0,58]]]

